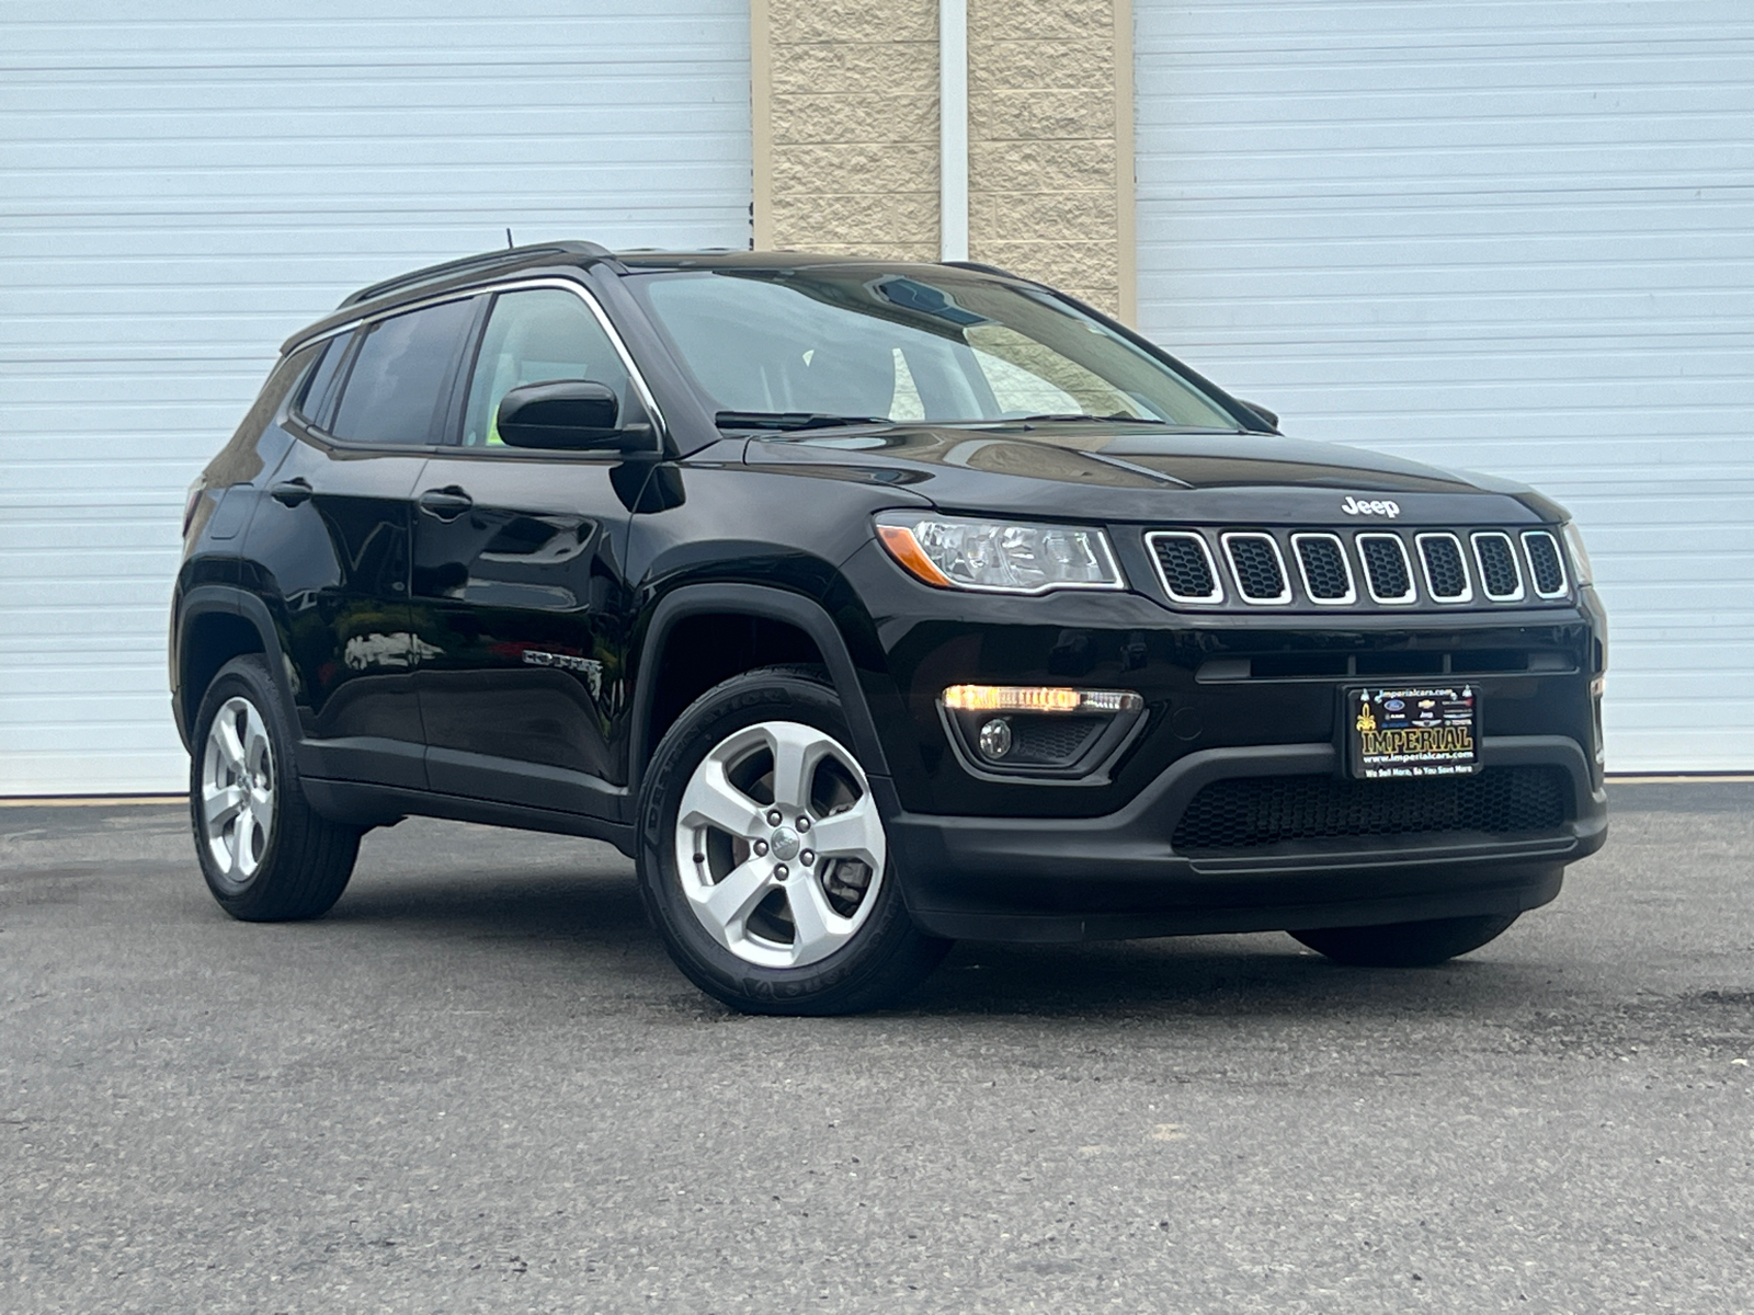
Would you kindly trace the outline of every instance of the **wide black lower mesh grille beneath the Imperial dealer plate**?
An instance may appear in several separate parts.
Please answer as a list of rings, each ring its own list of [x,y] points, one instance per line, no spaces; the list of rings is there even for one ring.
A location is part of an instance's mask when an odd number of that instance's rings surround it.
[[[1545,766],[1421,780],[1237,777],[1203,787],[1170,843],[1179,854],[1210,854],[1289,840],[1556,831],[1566,794],[1565,771]]]

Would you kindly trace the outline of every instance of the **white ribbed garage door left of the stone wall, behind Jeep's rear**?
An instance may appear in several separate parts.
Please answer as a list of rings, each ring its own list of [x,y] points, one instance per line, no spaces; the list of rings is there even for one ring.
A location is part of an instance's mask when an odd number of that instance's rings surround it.
[[[182,491],[353,288],[749,242],[745,0],[0,7],[0,794],[174,791]]]

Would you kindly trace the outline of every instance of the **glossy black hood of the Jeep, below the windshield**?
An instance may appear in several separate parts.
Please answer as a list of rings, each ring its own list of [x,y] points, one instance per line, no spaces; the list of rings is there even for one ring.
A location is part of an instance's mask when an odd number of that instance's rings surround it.
[[[1144,426],[886,426],[772,435],[745,459],[907,487],[942,510],[1056,521],[1535,522],[1563,508],[1521,484],[1337,444]],[[1359,512],[1393,503],[1394,512]],[[1347,510],[1347,507],[1354,510]]]

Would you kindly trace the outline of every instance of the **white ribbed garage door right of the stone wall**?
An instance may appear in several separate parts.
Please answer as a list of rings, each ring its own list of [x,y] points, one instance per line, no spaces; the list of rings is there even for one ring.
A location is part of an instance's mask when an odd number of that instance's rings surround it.
[[[1145,331],[1289,433],[1566,503],[1610,770],[1754,768],[1754,7],[1135,12]]]

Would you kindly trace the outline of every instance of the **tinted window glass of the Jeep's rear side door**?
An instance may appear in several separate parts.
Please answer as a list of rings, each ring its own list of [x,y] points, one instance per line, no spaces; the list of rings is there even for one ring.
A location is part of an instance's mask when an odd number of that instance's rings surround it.
[[[430,444],[474,314],[474,302],[446,302],[374,324],[354,352],[330,431],[372,445]]]

